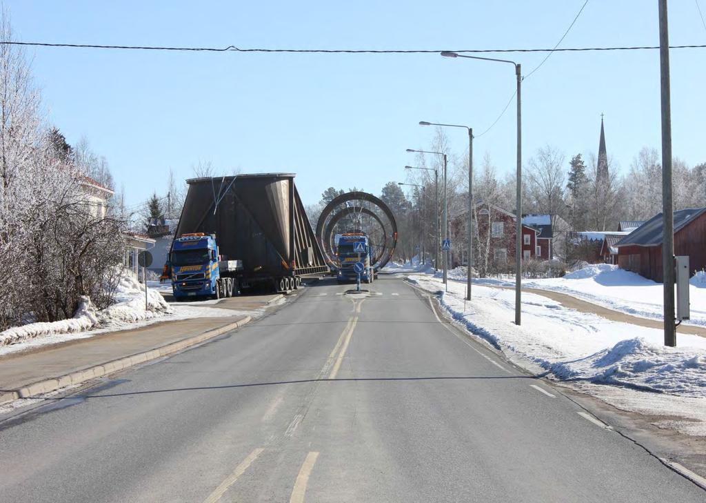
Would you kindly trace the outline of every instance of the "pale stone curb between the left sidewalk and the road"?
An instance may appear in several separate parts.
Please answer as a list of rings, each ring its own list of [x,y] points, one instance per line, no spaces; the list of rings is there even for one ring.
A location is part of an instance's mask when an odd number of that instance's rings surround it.
[[[142,353],[136,353],[135,355],[119,358],[118,360],[112,360],[100,365],[94,365],[93,367],[88,367],[87,369],[71,372],[71,374],[65,374],[52,379],[37,381],[23,386],[20,389],[0,391],[0,404],[17,400],[18,398],[30,398],[41,393],[49,393],[50,391],[56,391],[57,389],[70,386],[72,384],[81,384],[89,379],[94,379],[95,377],[103,377],[106,374],[111,374],[112,372],[117,372],[118,370],[133,367],[134,365],[155,360],[156,358],[162,356],[171,355],[177,351],[184,350],[198,343],[202,343],[203,341],[208,341],[210,338],[217,337],[223,333],[237,329],[244,324],[249,323],[249,321],[251,321],[251,317],[245,316],[243,319],[235,321],[234,323],[227,324],[218,329],[206,331],[198,336],[189,337],[175,343],[164,345],[160,348],[154,348],[148,351],[143,351]]]

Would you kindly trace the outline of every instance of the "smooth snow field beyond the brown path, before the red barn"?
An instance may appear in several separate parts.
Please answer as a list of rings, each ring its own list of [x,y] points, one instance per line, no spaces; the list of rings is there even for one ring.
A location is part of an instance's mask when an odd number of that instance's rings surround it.
[[[450,276],[452,273],[455,271],[450,271]],[[477,278],[473,283],[514,286],[515,280]],[[566,293],[633,316],[662,319],[662,283],[610,264],[587,266],[563,278],[522,280],[522,286]],[[689,297],[691,319],[684,324],[706,326],[706,273],[703,271],[691,278]]]

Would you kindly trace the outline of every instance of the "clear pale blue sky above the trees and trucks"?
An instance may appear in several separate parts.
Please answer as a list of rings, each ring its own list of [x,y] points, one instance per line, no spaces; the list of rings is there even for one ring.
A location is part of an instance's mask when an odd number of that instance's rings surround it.
[[[5,0],[20,40],[268,48],[553,47],[583,0],[30,1]],[[706,13],[706,0],[700,0]],[[671,44],[706,44],[693,0],[669,2]],[[657,45],[657,0],[590,0],[562,47]],[[405,179],[405,148],[429,145],[417,123],[486,129],[515,86],[510,65],[437,54],[211,54],[30,49],[49,118],[69,143],[88,137],[128,203],[166,192],[171,167],[296,172],[305,203],[330,186],[378,193]],[[491,55],[492,56],[492,55]],[[528,73],[542,54],[513,54]],[[671,52],[674,154],[706,161],[706,49]],[[595,153],[600,114],[620,169],[659,148],[657,51],[556,53],[523,85],[525,160],[549,144]],[[515,167],[515,116],[477,138],[501,172]],[[450,146],[465,150],[462,130]]]

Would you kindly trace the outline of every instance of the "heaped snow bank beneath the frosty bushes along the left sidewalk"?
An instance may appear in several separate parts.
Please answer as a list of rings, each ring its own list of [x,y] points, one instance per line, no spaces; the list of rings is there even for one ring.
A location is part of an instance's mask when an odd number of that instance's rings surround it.
[[[73,318],[13,327],[0,332],[0,346],[59,333],[78,333],[99,327],[121,326],[169,312],[169,304],[164,301],[162,295],[150,289],[148,309],[145,311],[145,288],[129,271],[125,271],[119,279],[114,298],[115,304],[98,311],[88,297],[82,297]]]

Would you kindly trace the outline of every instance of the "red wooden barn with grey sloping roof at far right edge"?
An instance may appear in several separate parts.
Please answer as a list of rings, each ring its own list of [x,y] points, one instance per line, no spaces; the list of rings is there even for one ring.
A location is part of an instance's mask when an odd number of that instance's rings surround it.
[[[662,213],[616,243],[618,266],[662,282]],[[674,254],[688,255],[691,274],[706,268],[706,208],[674,212]]]

